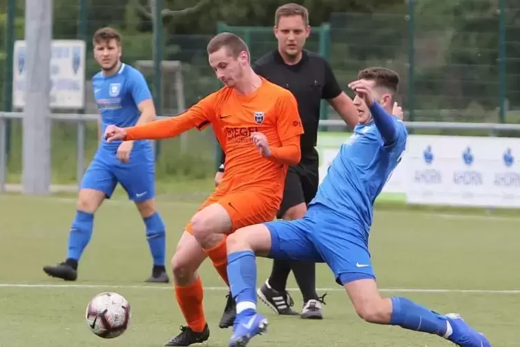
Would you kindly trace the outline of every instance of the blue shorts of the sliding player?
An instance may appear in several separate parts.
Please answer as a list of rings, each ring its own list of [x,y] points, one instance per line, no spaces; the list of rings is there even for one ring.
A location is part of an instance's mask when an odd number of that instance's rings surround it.
[[[316,208],[296,221],[264,225],[271,233],[271,259],[327,263],[340,285],[376,278],[368,240],[359,223]]]

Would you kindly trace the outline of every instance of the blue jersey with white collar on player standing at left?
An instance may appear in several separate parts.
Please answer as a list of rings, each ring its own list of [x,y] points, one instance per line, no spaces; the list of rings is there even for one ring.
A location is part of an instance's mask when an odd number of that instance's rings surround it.
[[[137,105],[152,95],[142,73],[132,66],[121,64],[114,75],[105,77],[102,72],[92,78],[94,97],[102,120],[102,133],[106,126],[114,124],[119,127],[134,126],[141,113]],[[117,150],[120,141],[106,142],[102,139],[102,147]],[[134,149],[150,146],[148,140],[134,142]]]

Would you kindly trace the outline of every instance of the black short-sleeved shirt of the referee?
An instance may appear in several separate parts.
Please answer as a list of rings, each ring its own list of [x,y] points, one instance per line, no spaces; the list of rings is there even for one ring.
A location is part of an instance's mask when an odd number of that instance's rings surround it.
[[[320,121],[320,102],[334,99],[342,92],[332,69],[323,57],[302,51],[298,64],[287,65],[278,50],[273,50],[253,64],[253,70],[265,79],[282,86],[296,97],[305,133],[300,138],[302,157],[314,153]],[[314,156],[314,154],[313,154]],[[224,153],[220,163],[224,163]]]

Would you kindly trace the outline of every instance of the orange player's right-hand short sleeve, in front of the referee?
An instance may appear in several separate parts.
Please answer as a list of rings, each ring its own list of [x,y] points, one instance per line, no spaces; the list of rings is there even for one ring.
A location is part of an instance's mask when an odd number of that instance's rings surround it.
[[[303,126],[298,113],[298,103],[291,92],[285,91],[278,99],[278,137],[282,145],[290,138],[302,135]]]

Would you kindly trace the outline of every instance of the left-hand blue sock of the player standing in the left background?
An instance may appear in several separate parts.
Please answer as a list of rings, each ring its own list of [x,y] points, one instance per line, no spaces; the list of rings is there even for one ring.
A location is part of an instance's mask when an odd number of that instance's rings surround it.
[[[94,227],[94,215],[88,212],[77,211],[73,225],[70,226],[68,235],[68,254],[67,259],[79,261],[81,254],[92,236]]]

